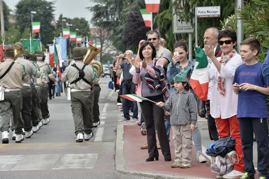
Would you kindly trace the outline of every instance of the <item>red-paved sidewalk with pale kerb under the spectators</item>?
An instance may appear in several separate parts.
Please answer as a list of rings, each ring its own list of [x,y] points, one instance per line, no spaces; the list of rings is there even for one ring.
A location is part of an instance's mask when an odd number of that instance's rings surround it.
[[[158,140],[157,135],[156,138]],[[175,148],[172,140],[169,143],[172,161],[164,161],[161,150],[158,150],[159,160],[146,162],[146,159],[149,157],[148,150],[140,149],[140,146],[144,145],[146,141],[146,136],[143,136],[140,133],[140,126],[122,124],[117,126],[116,169],[119,172],[158,179],[216,178],[217,174],[211,172],[210,166],[205,166],[204,163],[198,162],[194,146],[192,148],[192,167],[187,169],[171,168],[170,166],[175,158]],[[157,142],[157,144],[159,144],[159,142]],[[256,173],[255,177],[259,178],[258,173]]]

